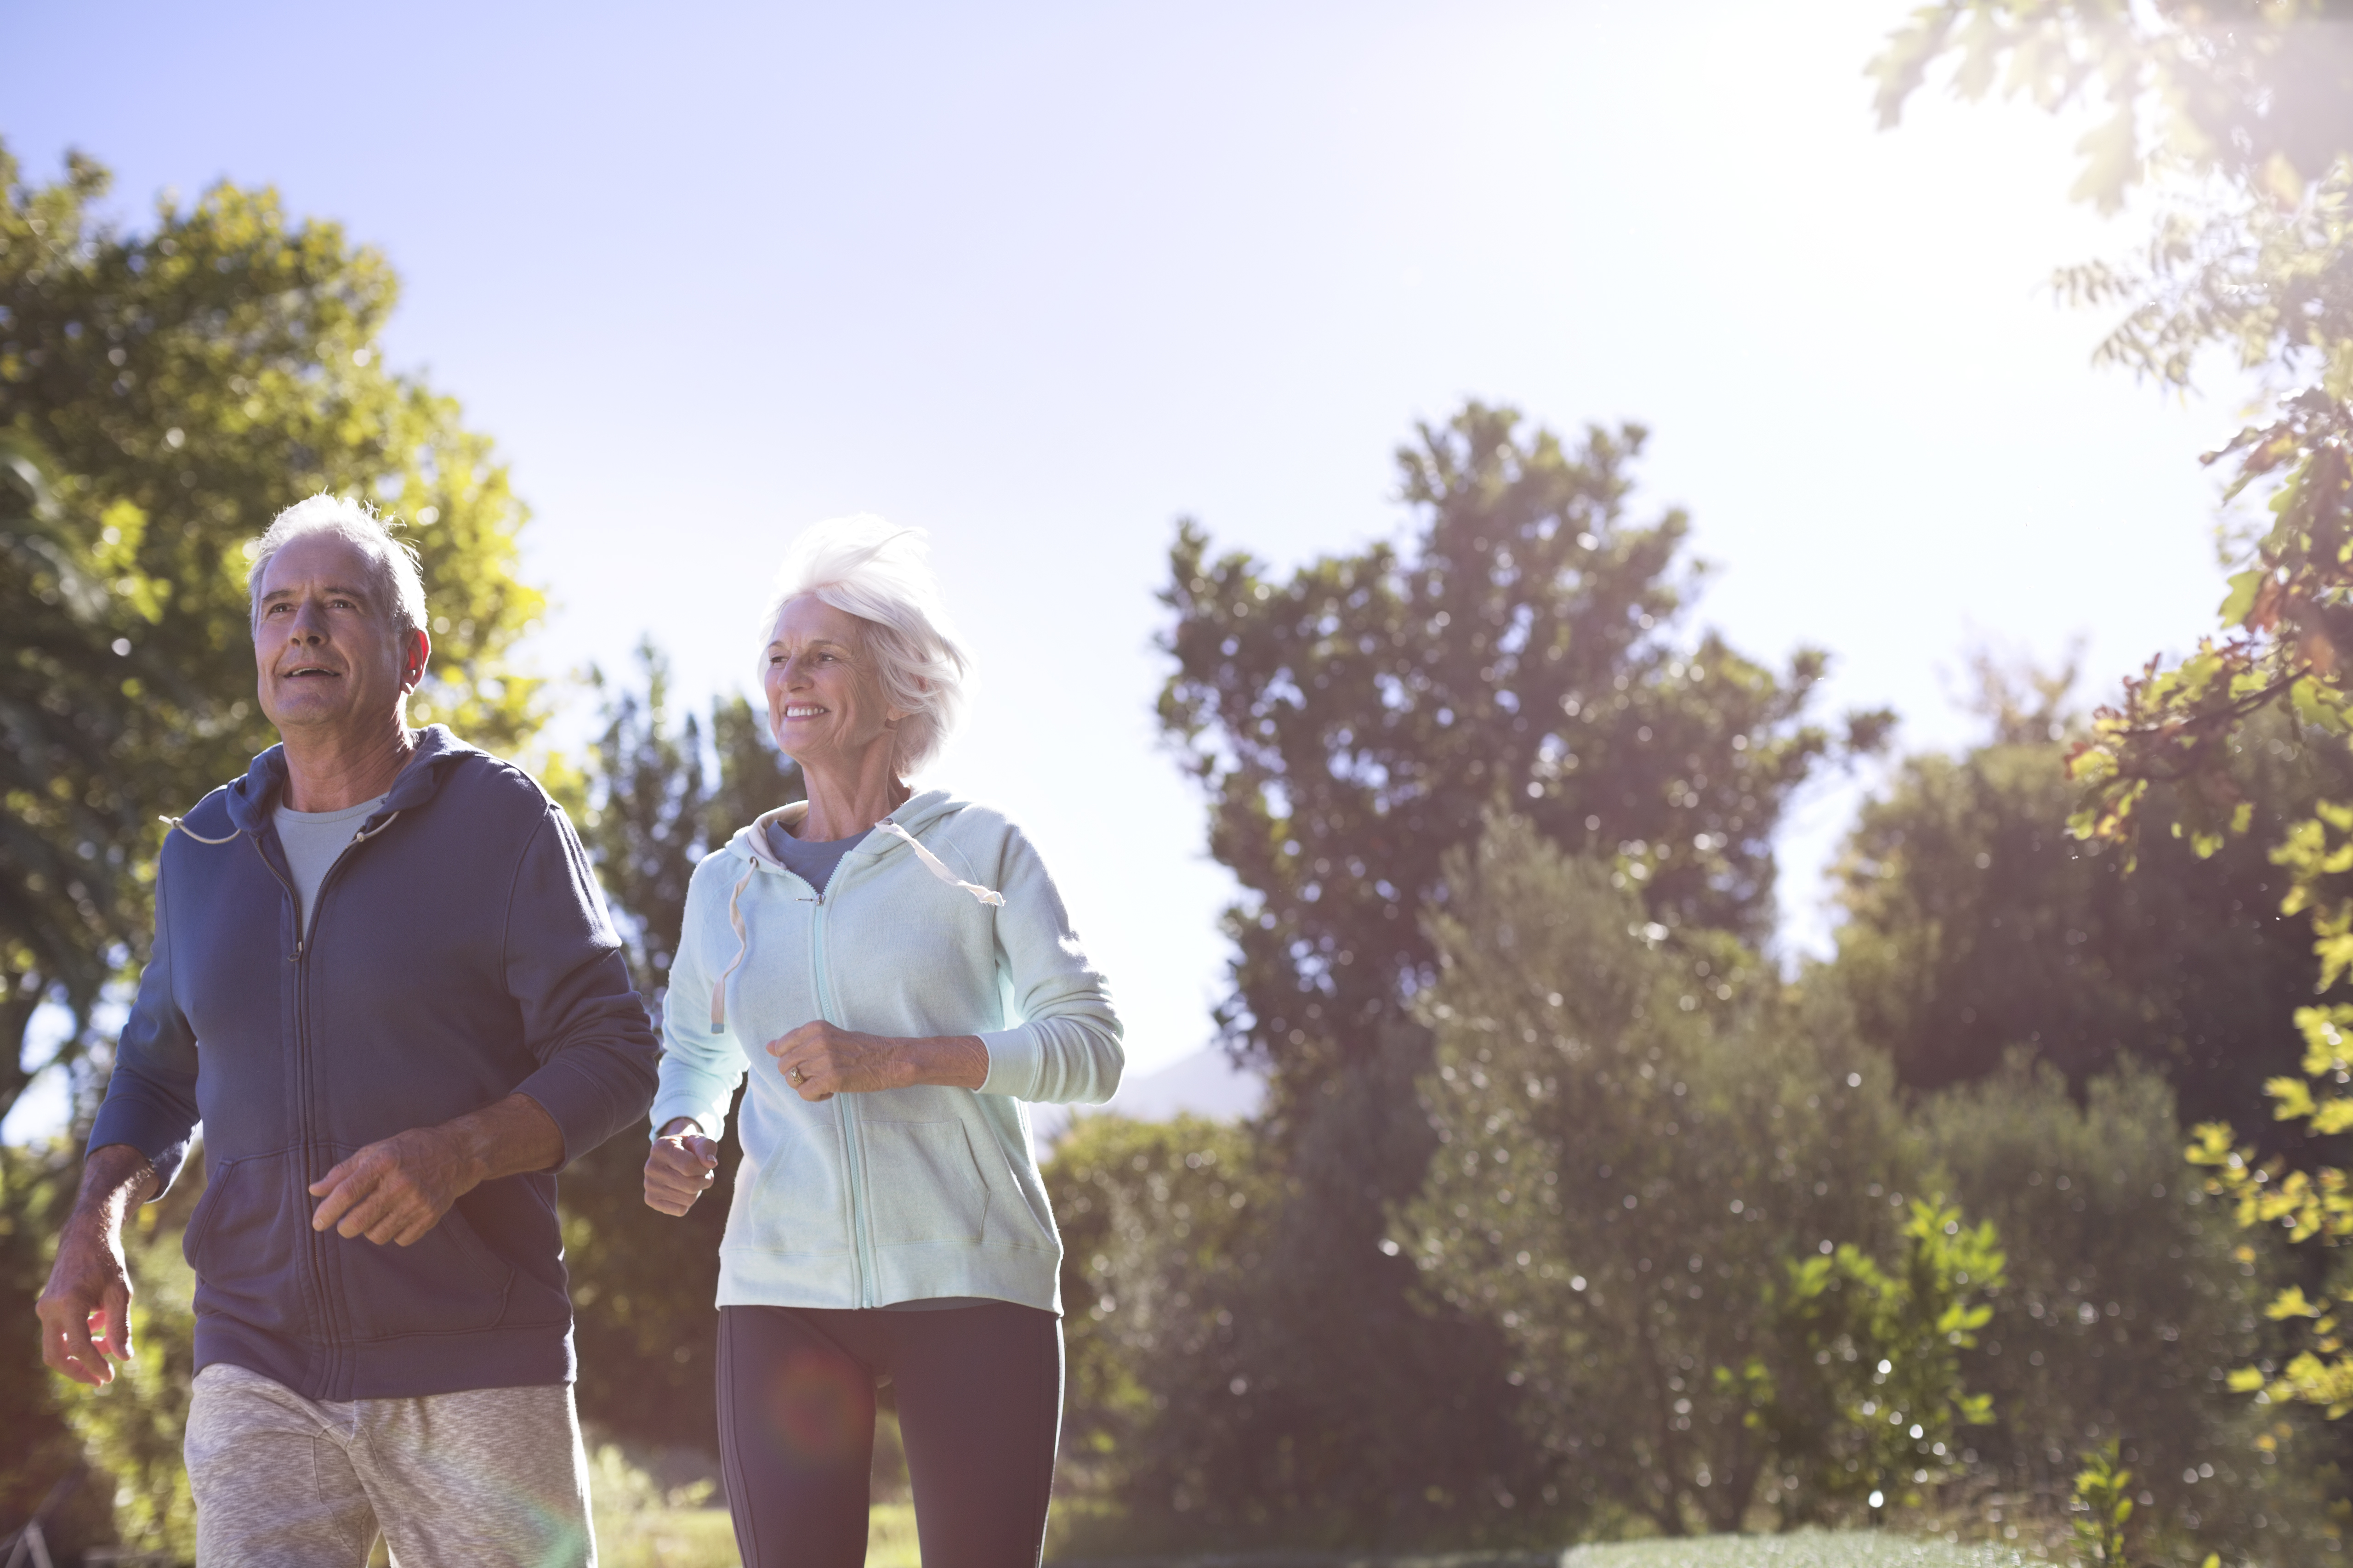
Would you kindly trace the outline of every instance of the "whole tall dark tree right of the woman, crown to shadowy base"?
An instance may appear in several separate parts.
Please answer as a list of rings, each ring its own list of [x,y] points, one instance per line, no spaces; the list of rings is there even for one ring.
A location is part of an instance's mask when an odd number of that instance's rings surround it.
[[[1202,1382],[1242,1382],[1228,1425],[1247,1415],[1247,1462],[1209,1490],[1238,1523],[1511,1540],[1548,1507],[1506,1338],[1379,1248],[1438,1147],[1409,999],[1435,978],[1424,917],[1452,896],[1447,851],[1504,804],[1544,842],[1609,858],[1647,924],[1692,952],[1769,922],[1772,827],[1831,750],[1802,722],[1821,656],[1779,677],[1713,635],[1678,637],[1687,520],[1628,515],[1640,444],[1588,430],[1572,451],[1468,404],[1398,456],[1402,545],[1278,581],[1179,529],[1160,719],[1242,884],[1221,1025],[1271,1072],[1282,1175],[1268,1269],[1233,1307],[1233,1373]],[[1849,743],[1882,726],[1854,719]]]

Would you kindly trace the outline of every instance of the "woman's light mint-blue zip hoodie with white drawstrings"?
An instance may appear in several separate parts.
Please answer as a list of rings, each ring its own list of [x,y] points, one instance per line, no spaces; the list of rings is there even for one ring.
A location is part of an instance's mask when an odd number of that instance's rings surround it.
[[[927,790],[833,870],[824,896],[744,827],[694,867],[664,1006],[654,1128],[718,1135],[744,1093],[744,1166],[720,1241],[722,1307],[887,1307],[986,1295],[1061,1312],[1061,1234],[1026,1100],[1099,1105],[1125,1051],[1111,997],[1038,851],[1000,813]],[[802,1100],[762,1046],[826,1018],[868,1034],[979,1034],[979,1091]]]

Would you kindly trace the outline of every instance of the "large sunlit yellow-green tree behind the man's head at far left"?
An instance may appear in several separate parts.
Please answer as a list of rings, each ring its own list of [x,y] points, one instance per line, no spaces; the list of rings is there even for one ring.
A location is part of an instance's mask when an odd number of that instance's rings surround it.
[[[541,609],[515,581],[525,510],[456,402],[386,369],[384,256],[226,183],[120,230],[89,214],[106,183],[75,155],[28,186],[0,146],[0,433],[47,456],[0,550],[0,1114],[47,1065],[21,1060],[33,1011],[73,1011],[73,1067],[101,990],[146,954],[155,818],[271,743],[245,545],[280,508],[332,489],[409,524],[435,642],[416,719],[499,750],[539,722],[508,663]]]

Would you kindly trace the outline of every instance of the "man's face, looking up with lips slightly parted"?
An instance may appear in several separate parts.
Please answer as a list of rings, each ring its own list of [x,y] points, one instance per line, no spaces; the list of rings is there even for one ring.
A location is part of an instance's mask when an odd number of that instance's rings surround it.
[[[254,585],[261,712],[280,733],[400,722],[426,651],[424,632],[402,639],[393,630],[376,564],[336,534],[285,545]]]

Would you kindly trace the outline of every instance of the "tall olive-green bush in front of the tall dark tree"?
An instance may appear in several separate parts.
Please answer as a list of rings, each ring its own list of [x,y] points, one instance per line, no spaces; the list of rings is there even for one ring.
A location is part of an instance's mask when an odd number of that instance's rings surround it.
[[[1426,1288],[1497,1326],[1544,1502],[1737,1530],[1795,1455],[1748,1420],[1812,1387],[1760,1298],[1788,1258],[1889,1251],[1904,1147],[1882,1058],[1737,950],[1678,950],[1607,863],[1501,818],[1431,917],[1438,1157],[1393,1220]],[[1760,1493],[1769,1488],[1769,1493]]]

